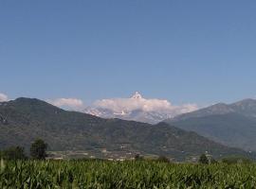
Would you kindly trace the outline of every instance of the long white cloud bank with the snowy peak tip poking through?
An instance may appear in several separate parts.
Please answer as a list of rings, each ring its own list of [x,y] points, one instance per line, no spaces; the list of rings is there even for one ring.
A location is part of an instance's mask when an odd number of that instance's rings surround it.
[[[192,112],[198,109],[196,104],[184,104],[174,106],[165,99],[145,99],[136,93],[131,98],[112,98],[97,100],[94,103],[96,108],[108,109],[113,112],[132,112],[142,110],[144,112],[162,112],[173,115]]]

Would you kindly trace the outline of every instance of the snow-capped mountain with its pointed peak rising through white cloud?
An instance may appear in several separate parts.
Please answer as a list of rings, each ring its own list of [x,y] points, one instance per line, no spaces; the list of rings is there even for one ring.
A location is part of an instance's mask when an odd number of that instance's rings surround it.
[[[156,124],[178,114],[195,110],[197,110],[196,105],[173,106],[167,100],[146,99],[136,92],[130,98],[98,100],[92,107],[86,108],[84,112],[102,118],[119,118]]]

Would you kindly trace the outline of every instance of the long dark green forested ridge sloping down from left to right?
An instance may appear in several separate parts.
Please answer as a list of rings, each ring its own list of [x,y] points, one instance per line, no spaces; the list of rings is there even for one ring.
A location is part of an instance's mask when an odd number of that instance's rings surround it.
[[[53,151],[104,149],[115,153],[165,155],[176,160],[198,157],[206,151],[215,158],[249,155],[166,123],[150,125],[103,119],[82,112],[67,112],[39,99],[17,98],[0,103],[0,149],[8,146],[28,149],[38,137]]]

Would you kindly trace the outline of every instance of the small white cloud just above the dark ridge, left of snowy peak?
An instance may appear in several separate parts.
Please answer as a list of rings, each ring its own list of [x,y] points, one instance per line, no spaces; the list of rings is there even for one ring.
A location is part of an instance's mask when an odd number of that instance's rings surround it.
[[[50,104],[60,108],[71,108],[74,110],[82,109],[83,102],[77,98],[57,98],[55,100],[47,100]]]

